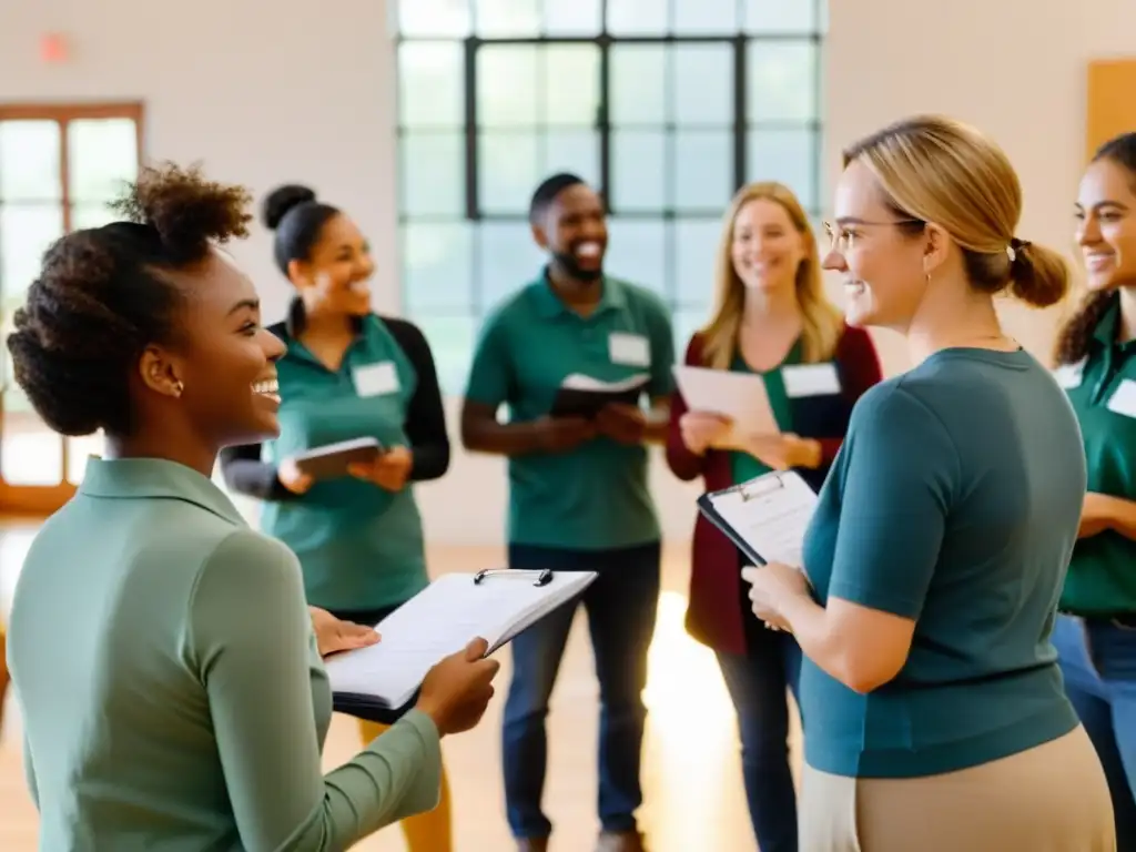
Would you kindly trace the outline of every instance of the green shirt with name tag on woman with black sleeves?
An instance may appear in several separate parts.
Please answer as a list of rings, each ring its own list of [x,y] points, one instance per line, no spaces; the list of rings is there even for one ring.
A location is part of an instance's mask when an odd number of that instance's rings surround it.
[[[281,434],[270,460],[364,436],[409,445],[407,407],[418,377],[382,319],[362,319],[337,370],[285,334],[277,364]],[[408,486],[391,493],[346,476],[317,482],[293,500],[267,502],[261,528],[287,544],[303,566],[308,600],[331,610],[402,603],[428,582],[423,525]]]

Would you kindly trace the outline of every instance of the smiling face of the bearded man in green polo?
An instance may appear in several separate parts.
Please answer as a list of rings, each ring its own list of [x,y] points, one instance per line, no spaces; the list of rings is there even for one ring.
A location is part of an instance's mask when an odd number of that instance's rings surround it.
[[[585,184],[563,190],[534,225],[537,244],[552,254],[553,262],[569,277],[599,281],[608,251],[608,225],[603,201]]]

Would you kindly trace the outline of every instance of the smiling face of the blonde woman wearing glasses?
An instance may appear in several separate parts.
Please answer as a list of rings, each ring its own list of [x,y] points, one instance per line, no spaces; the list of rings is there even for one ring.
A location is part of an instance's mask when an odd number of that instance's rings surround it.
[[[841,175],[835,211],[822,265],[843,274],[849,324],[905,331],[926,293],[926,241],[903,227],[908,217],[887,204],[860,160]]]

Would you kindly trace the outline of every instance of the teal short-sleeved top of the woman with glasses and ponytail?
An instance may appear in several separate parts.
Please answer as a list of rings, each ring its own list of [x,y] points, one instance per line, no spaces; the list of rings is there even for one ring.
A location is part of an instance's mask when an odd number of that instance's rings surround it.
[[[822,605],[916,627],[903,669],[868,694],[805,658],[809,766],[928,776],[1076,727],[1050,634],[1084,487],[1077,419],[1025,351],[944,350],[860,398],[805,570]]]

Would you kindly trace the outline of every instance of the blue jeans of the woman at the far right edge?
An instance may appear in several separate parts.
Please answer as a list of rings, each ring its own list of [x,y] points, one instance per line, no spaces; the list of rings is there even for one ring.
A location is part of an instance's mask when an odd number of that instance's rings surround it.
[[[1058,616],[1053,644],[1109,782],[1117,850],[1136,852],[1136,628]]]

